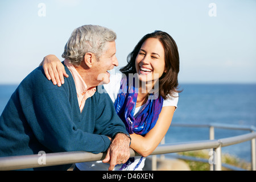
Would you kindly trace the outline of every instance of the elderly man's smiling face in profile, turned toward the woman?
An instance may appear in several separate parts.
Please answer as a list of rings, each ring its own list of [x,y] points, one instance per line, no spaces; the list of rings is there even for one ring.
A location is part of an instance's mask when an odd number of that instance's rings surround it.
[[[94,64],[95,74],[97,74],[98,85],[109,83],[109,70],[118,66],[118,60],[115,56],[115,42],[106,43],[106,51],[99,57]]]

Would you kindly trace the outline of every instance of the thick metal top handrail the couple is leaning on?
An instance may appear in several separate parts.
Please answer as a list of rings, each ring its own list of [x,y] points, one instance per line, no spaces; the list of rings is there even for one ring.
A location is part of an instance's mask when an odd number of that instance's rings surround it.
[[[218,155],[214,156],[217,162],[217,169],[221,169],[220,148],[255,139],[256,133],[243,134],[236,137],[223,138],[218,140],[201,140],[196,142],[180,142],[172,144],[160,144],[151,155],[168,154],[182,151],[193,151],[214,148]],[[40,164],[41,155],[8,156],[0,158],[0,170],[15,170],[35,167],[56,166],[61,164],[73,164],[103,160],[105,153],[92,154],[85,151],[57,152],[46,154],[46,163]],[[130,149],[131,156],[139,156],[137,152]]]

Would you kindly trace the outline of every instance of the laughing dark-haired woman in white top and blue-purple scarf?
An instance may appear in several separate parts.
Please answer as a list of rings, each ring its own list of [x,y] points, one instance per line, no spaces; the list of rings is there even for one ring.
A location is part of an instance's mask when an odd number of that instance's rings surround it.
[[[43,67],[53,84],[64,83],[65,70],[56,56],[46,56]],[[122,74],[110,76],[110,83],[104,88],[130,133],[130,147],[142,157],[130,158],[114,170],[142,170],[145,157],[166,135],[177,107],[179,52],[174,39],[162,31],[145,35],[120,71]],[[79,163],[76,167],[80,170],[108,169],[101,161]]]

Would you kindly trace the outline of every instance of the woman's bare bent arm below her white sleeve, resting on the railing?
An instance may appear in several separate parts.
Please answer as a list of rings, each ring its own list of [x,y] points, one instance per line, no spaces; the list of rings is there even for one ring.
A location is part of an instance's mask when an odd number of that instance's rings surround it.
[[[131,134],[131,145],[136,152],[146,157],[155,150],[158,144],[166,135],[174,115],[175,106],[166,106],[162,108],[158,121],[144,137],[138,134]]]

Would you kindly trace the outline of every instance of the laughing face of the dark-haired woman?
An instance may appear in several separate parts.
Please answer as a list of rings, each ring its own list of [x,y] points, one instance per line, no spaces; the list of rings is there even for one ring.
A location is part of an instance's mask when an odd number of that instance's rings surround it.
[[[140,81],[150,82],[160,78],[166,72],[162,43],[156,38],[146,39],[135,64]]]

